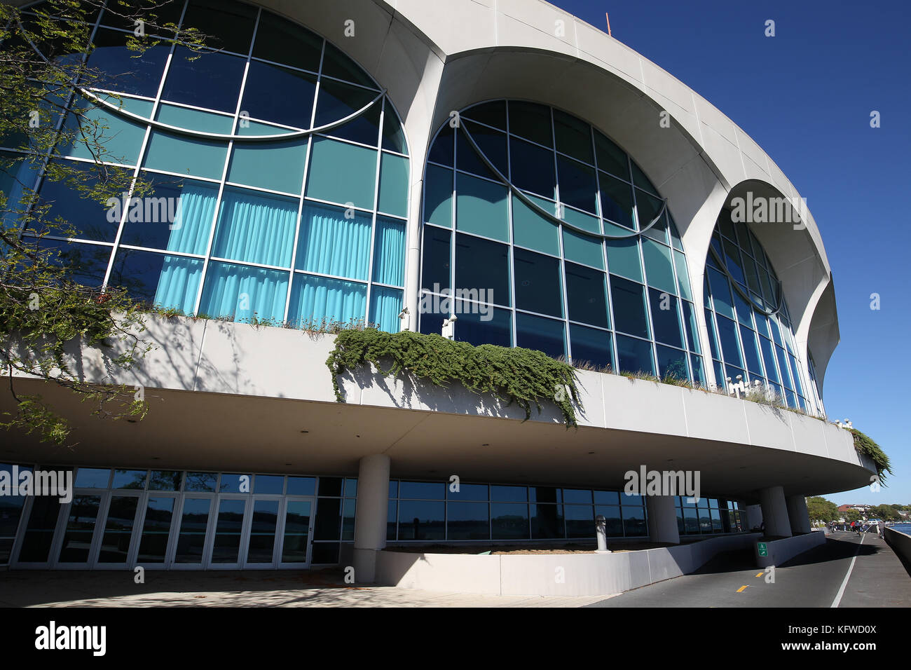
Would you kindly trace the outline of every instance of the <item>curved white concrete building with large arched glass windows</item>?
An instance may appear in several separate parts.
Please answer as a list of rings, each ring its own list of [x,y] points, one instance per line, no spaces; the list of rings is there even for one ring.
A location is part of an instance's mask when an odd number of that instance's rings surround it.
[[[875,473],[824,421],[838,325],[812,215],[660,67],[539,0],[162,12],[220,48],[130,58],[131,31],[102,10],[87,61],[111,73],[87,91],[106,163],[150,180],[159,209],[126,193],[112,215],[30,179],[76,228],[40,243],[79,281],[189,318],[149,316],[158,347],[128,373],[76,354],[87,378],[145,389],[137,424],[20,380],[67,409],[79,446],[10,436],[0,469],[70,471],[75,493],[0,500],[0,563],[351,562],[369,582],[392,543],[590,540],[599,515],[610,538],[790,535],[809,530],[805,495]],[[81,146],[47,158],[93,162]],[[13,200],[21,159],[0,148]],[[800,217],[744,217],[743,201]],[[334,402],[333,338],[308,333],[440,333],[453,315],[456,340],[578,366],[578,430],[554,407],[523,422],[371,371]],[[701,495],[629,495],[642,467],[698,472]]]

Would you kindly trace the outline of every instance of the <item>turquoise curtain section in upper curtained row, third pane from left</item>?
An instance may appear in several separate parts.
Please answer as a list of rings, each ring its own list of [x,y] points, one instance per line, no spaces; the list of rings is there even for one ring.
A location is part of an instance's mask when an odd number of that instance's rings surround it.
[[[340,207],[304,203],[294,263],[298,270],[367,279],[372,218],[353,213],[346,219]]]

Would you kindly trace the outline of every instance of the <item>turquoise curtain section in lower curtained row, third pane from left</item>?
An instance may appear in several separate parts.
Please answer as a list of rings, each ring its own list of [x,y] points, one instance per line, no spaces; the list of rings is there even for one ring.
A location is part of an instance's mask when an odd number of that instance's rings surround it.
[[[366,284],[295,273],[288,321],[298,327],[323,320],[363,321],[366,304]]]

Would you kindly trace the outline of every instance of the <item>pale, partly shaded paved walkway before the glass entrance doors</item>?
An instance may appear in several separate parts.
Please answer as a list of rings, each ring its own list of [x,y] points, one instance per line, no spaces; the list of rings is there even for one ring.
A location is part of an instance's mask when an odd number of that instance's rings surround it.
[[[507,596],[359,587],[339,571],[0,572],[3,607],[581,607],[604,596]]]

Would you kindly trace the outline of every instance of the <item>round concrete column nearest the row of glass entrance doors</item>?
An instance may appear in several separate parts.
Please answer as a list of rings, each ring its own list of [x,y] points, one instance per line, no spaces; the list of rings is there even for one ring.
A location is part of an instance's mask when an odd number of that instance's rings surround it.
[[[354,512],[354,580],[376,580],[376,552],[386,546],[389,507],[389,457],[364,456],[357,474],[357,510]]]

